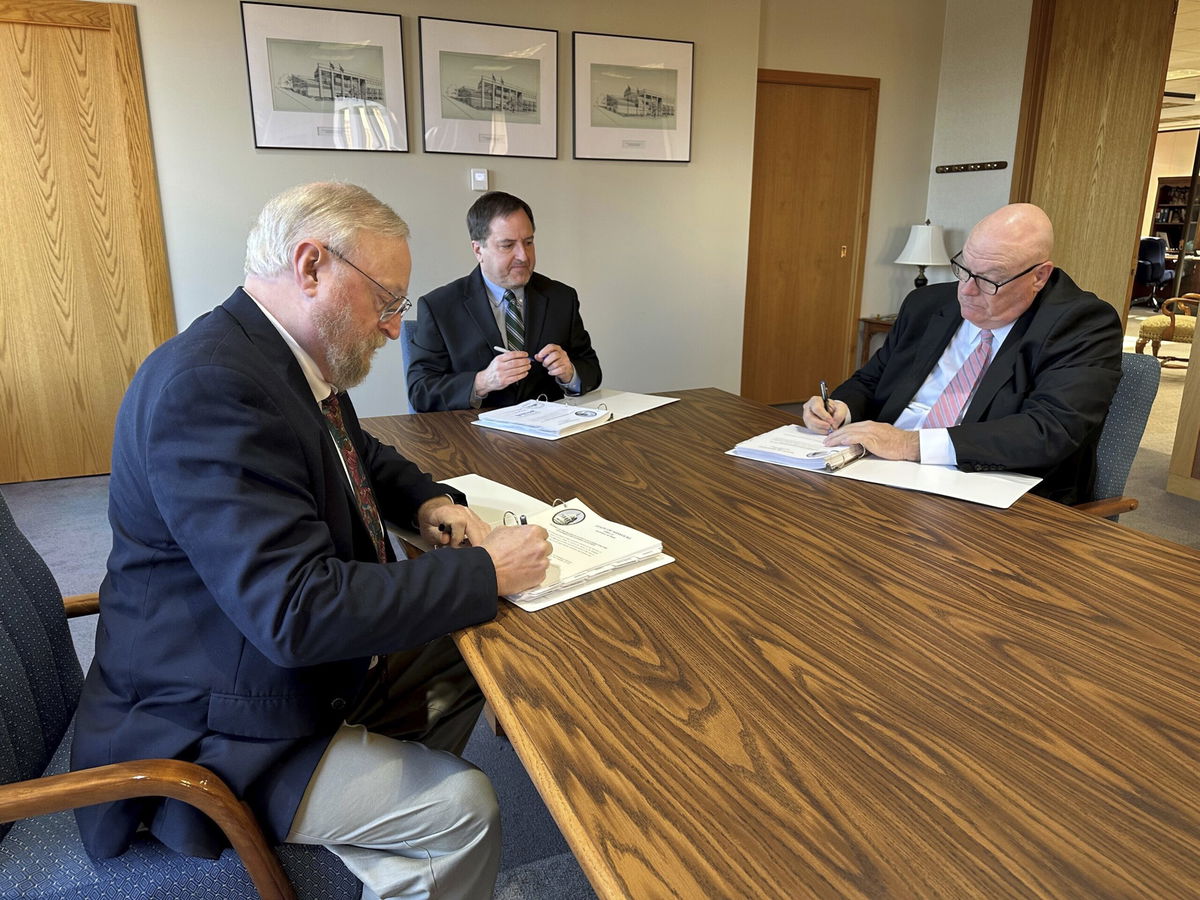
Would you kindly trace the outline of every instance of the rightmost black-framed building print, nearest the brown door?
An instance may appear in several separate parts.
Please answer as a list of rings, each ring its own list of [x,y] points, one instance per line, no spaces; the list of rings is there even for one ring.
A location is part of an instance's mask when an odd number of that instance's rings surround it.
[[[695,44],[572,32],[576,160],[691,162]]]

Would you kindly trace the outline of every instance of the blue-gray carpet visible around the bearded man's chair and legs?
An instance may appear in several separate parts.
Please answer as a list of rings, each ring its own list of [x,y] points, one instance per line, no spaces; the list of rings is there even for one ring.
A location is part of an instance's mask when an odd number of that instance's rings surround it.
[[[112,546],[108,476],[0,485],[0,492],[62,593],[95,592]],[[84,668],[94,653],[95,628],[95,617],[71,623]],[[499,900],[595,898],[512,745],[492,734],[480,719],[463,756],[487,773],[500,800],[504,845],[496,896]]]

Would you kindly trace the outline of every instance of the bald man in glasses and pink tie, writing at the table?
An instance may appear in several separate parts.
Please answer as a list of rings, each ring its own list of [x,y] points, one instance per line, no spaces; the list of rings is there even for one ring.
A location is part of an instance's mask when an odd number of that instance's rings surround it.
[[[1045,212],[1018,203],[977,224],[956,283],[912,292],[880,350],[804,422],[886,460],[1018,470],[1061,503],[1091,494],[1121,378],[1116,311],[1051,262]]]

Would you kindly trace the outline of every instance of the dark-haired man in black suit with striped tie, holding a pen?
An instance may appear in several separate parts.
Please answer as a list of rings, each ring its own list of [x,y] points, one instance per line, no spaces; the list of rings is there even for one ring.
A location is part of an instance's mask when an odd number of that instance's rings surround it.
[[[467,230],[479,265],[420,298],[408,365],[418,413],[506,407],[600,386],[600,360],[574,288],[534,272],[533,210],[491,191]]]

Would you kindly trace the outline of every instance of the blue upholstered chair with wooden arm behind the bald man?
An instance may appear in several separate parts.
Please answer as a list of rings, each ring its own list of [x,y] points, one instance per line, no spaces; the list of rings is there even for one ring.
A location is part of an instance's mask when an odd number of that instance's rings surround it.
[[[1138,500],[1122,497],[1133,457],[1146,431],[1160,376],[1158,361],[1138,353],[1121,354],[1121,380],[1096,448],[1096,487],[1092,499],[1075,509],[1116,522],[1120,514],[1138,509]]]

